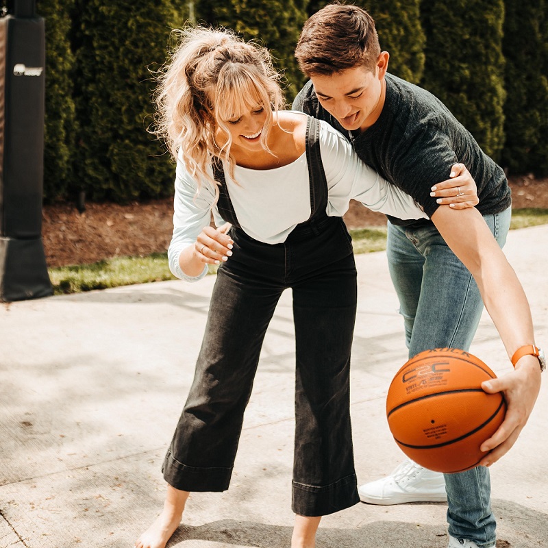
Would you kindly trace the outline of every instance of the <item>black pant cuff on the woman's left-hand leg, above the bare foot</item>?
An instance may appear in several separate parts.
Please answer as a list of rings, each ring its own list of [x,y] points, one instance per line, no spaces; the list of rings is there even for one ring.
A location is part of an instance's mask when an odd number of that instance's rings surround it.
[[[175,489],[219,493],[228,489],[232,466],[230,468],[187,466],[175,460],[171,451],[168,451],[162,464],[162,473],[166,482]]]

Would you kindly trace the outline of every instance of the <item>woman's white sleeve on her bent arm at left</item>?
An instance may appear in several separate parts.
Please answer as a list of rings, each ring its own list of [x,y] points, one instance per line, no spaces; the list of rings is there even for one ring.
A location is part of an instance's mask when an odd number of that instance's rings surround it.
[[[200,191],[195,179],[186,171],[184,163],[177,161],[175,171],[175,197],[173,199],[173,235],[168,248],[169,269],[174,276],[186,282],[196,282],[208,273],[208,266],[199,276],[187,276],[179,266],[179,255],[189,245],[194,245],[202,229],[210,224],[214,189],[208,182]]]

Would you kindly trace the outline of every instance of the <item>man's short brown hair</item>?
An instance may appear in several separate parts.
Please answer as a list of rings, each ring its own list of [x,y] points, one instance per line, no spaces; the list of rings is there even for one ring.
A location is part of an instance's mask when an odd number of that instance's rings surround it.
[[[375,69],[381,53],[375,21],[356,5],[327,4],[306,21],[295,57],[306,76],[355,66]]]

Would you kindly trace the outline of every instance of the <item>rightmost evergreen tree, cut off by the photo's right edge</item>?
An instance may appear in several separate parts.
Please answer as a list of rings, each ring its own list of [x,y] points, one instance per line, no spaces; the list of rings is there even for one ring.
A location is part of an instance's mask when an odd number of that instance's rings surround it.
[[[502,164],[511,173],[548,173],[548,4],[506,0],[506,142]]]

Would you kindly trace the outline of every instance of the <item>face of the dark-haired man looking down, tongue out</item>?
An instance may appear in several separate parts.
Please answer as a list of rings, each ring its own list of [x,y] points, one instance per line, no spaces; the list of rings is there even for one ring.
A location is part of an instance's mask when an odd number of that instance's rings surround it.
[[[367,129],[377,121],[384,105],[384,74],[355,66],[332,75],[310,77],[316,96],[329,114],[345,129]]]

